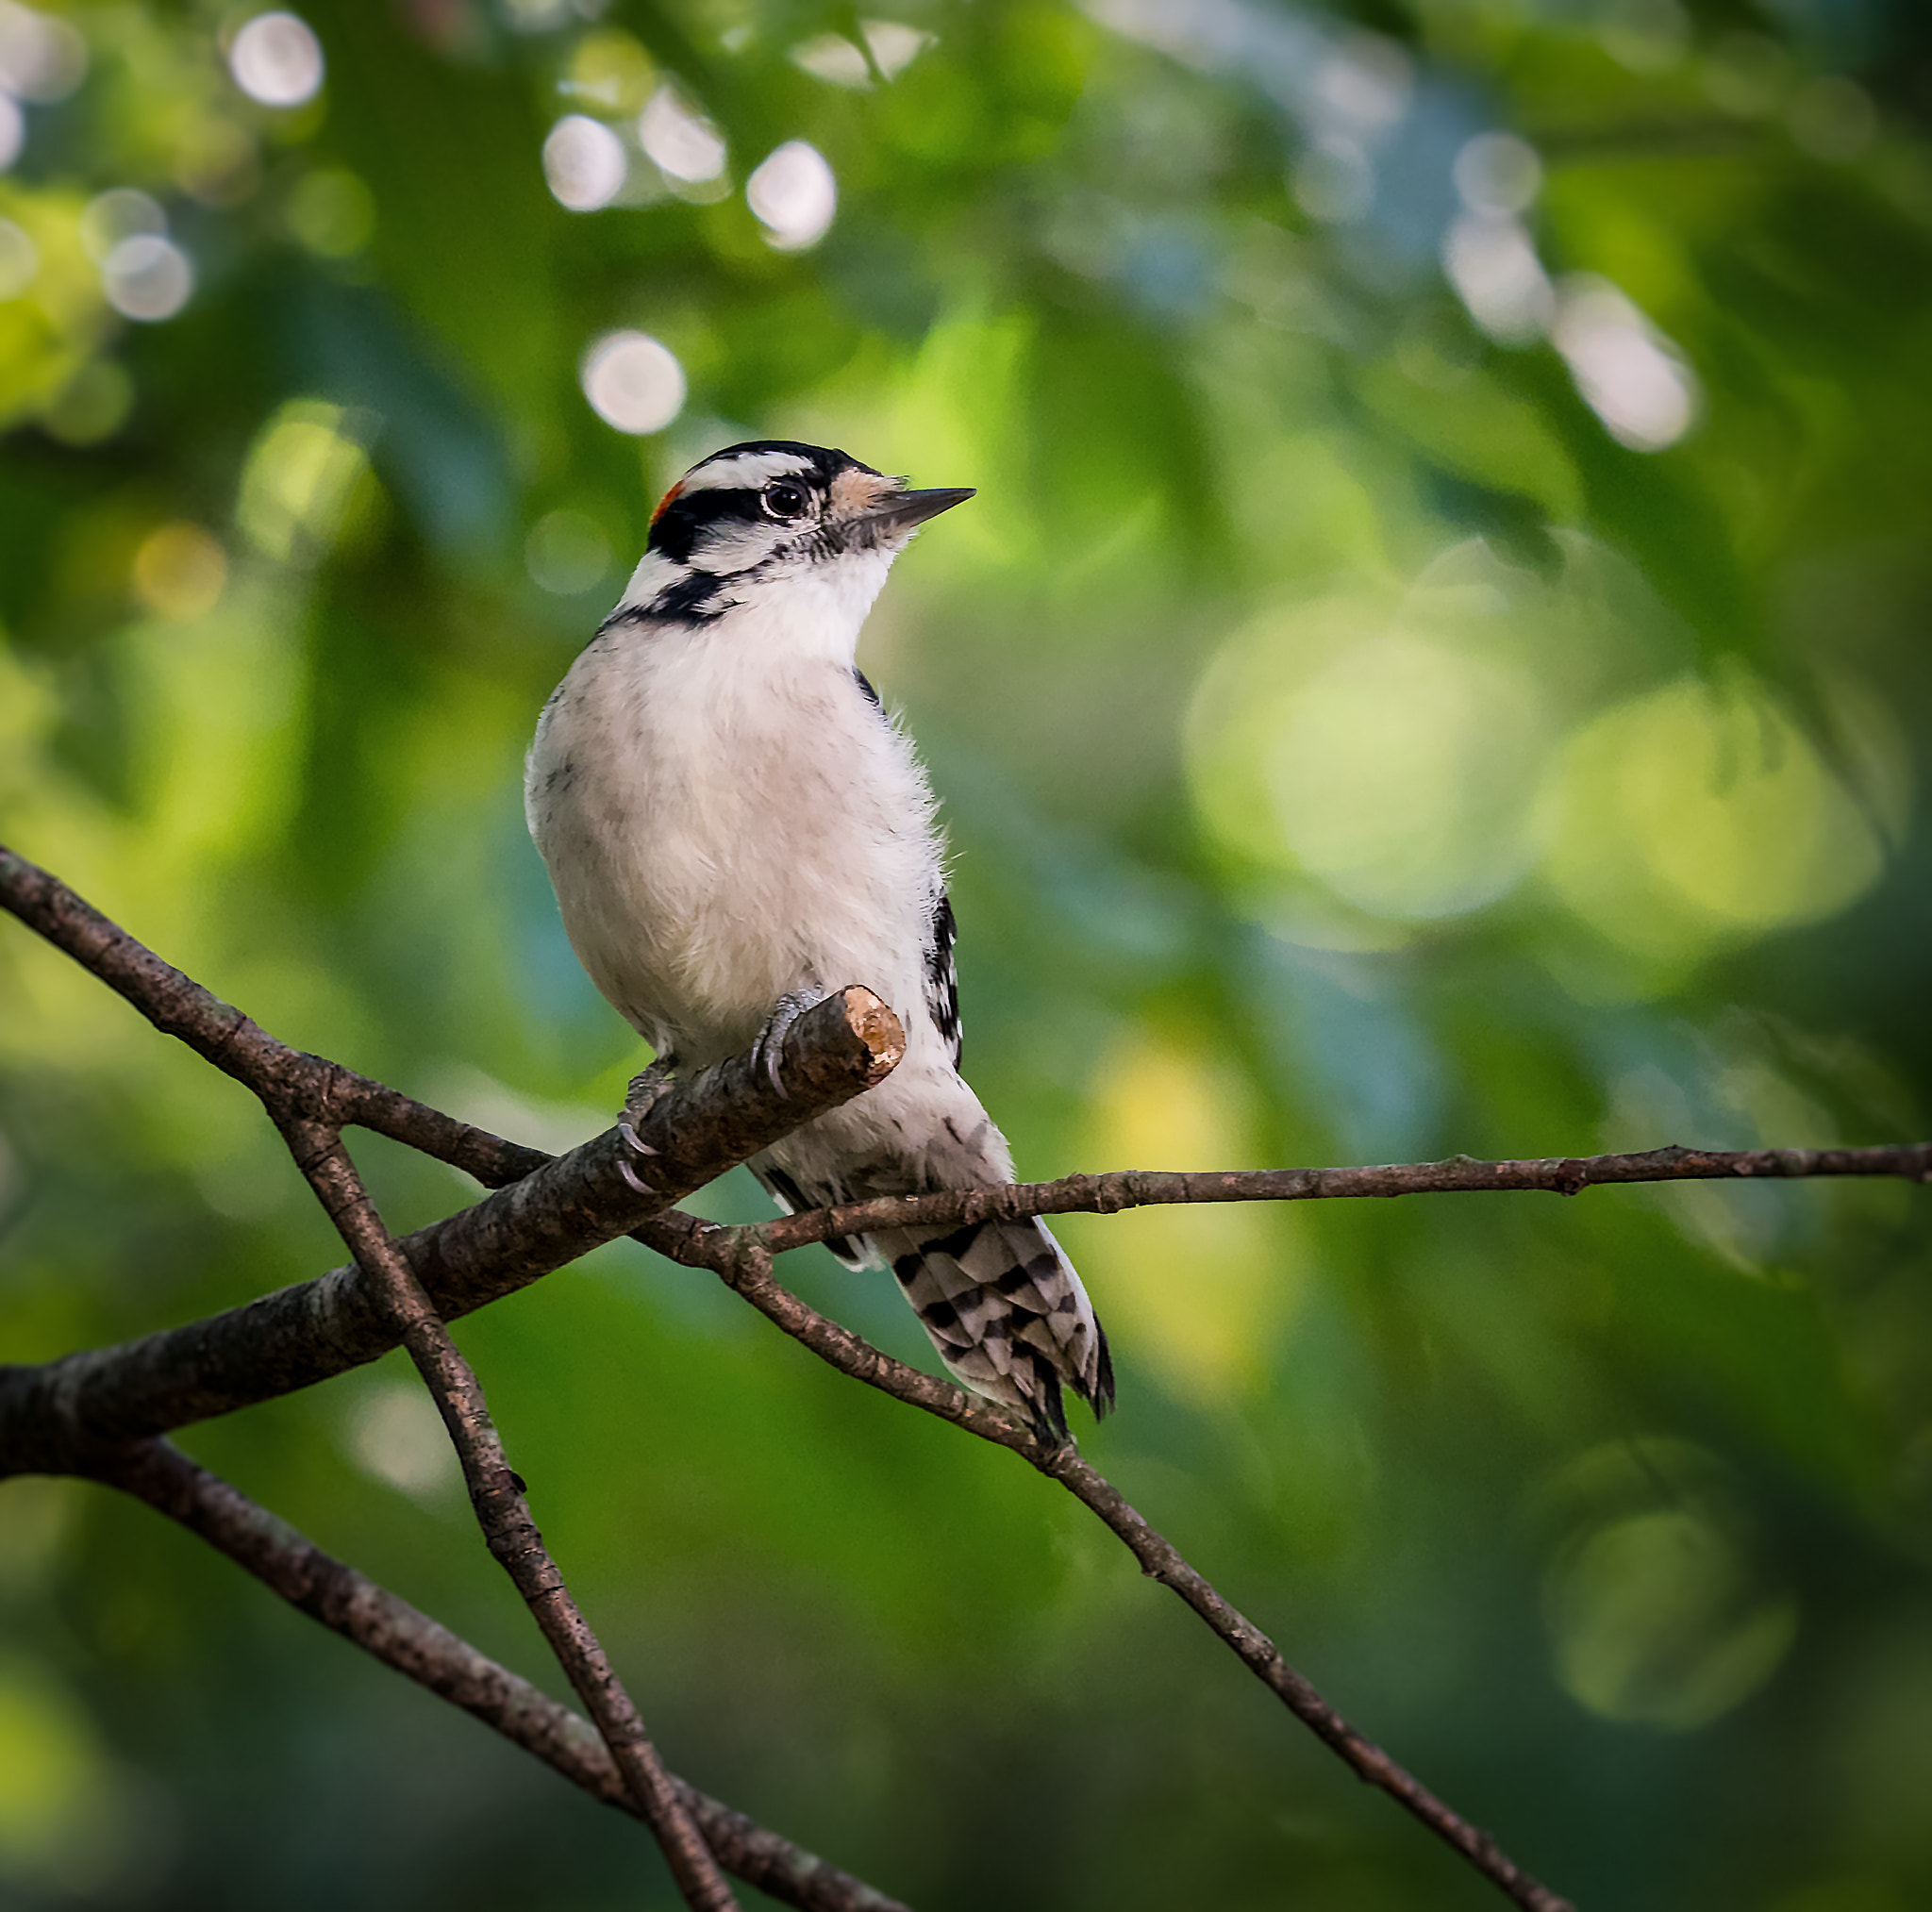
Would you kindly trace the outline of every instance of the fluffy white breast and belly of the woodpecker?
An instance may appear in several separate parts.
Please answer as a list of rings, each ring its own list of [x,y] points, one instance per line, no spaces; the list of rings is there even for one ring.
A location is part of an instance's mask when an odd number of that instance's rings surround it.
[[[927,1022],[931,796],[852,676],[838,637],[858,618],[817,610],[614,626],[529,753],[529,829],[578,958],[686,1066],[744,1049],[794,991],[866,983],[908,1033]]]

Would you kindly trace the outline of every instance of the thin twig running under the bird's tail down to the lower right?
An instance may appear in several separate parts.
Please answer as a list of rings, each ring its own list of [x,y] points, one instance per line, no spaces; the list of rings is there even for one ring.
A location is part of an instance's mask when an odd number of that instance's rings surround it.
[[[810,1348],[838,1373],[864,1381],[895,1400],[923,1408],[927,1414],[968,1433],[1012,1448],[1051,1481],[1059,1481],[1076,1501],[1105,1522],[1126,1545],[1148,1578],[1179,1593],[1206,1620],[1208,1628],[1235,1649],[1244,1667],[1296,1719],[1310,1727],[1358,1779],[1379,1786],[1405,1806],[1437,1839],[1453,1846],[1486,1879],[1528,1912],[1573,1912],[1571,1902],[1551,1893],[1526,1873],[1480,1827],[1470,1825],[1455,1808],[1439,1800],[1412,1773],[1397,1765],[1379,1746],[1364,1738],[1341,1717],[1316,1688],[1296,1673],[1281,1649],[1252,1620],[1225,1601],[1204,1574],[1192,1568],[1180,1553],[1134,1512],[1097,1468],[1082,1460],[1078,1450],[1049,1447],[1024,1421],[1009,1416],[993,1402],[980,1400],[951,1381],[908,1367],[904,1362],[873,1348],[867,1340],[827,1319],[771,1273],[771,1253],[759,1242],[748,1242],[746,1230],[723,1228],[711,1223],[692,1223],[690,1217],[659,1217],[651,1234],[655,1246],[692,1267],[707,1267],[724,1284],[742,1294],[767,1321]]]

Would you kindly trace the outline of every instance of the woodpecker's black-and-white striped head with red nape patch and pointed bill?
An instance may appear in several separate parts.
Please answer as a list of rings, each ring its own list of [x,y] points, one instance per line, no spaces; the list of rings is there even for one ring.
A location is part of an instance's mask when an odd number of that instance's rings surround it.
[[[726,446],[665,492],[612,622],[709,624],[734,610],[815,606],[850,616],[856,635],[912,533],[970,496],[910,491],[817,444]]]

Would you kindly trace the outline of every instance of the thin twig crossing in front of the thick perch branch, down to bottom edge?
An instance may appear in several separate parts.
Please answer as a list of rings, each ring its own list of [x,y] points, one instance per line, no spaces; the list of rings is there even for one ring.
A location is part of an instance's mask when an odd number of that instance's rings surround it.
[[[684,1800],[678,1798],[603,1642],[583,1618],[562,1570],[543,1545],[524,1493],[524,1479],[504,1454],[502,1437],[489,1416],[475,1369],[450,1340],[450,1331],[437,1317],[423,1284],[402,1257],[394,1236],[383,1226],[342,1145],[342,1136],[321,1122],[284,1120],[278,1126],[290,1155],[315,1190],[315,1199],[336,1224],[388,1327],[410,1352],[435,1398],[462,1460],[469,1504],[475,1508],[489,1551],[524,1595],[556,1663],[603,1734],[605,1746],[611,1748],[611,1757],[649,1823],[684,1902],[696,1912],[738,1912],[738,1900]]]

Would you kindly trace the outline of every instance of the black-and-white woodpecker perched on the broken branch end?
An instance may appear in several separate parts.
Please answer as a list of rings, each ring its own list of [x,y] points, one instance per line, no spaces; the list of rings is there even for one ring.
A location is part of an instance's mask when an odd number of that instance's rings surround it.
[[[529,832],[570,944],[655,1051],[632,1122],[680,1072],[757,1045],[866,983],[906,1031],[898,1068],[750,1163],[788,1213],[1012,1182],[960,1074],[956,925],[937,803],[858,666],[893,558],[970,487],[914,491],[846,452],[757,438],[692,465],[537,722]],[[947,1371],[1068,1441],[1113,1360],[1036,1217],[833,1240],[891,1269]]]

